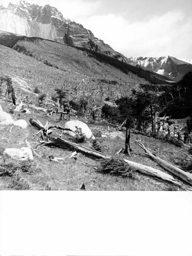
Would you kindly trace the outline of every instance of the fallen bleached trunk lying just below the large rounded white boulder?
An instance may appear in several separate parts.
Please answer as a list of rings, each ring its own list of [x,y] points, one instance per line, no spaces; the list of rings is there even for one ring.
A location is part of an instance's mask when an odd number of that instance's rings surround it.
[[[108,157],[107,155],[98,152],[96,150],[78,145],[76,143],[70,142],[68,140],[63,140],[61,138],[51,138],[51,141],[46,141],[41,143],[43,146],[56,146],[60,148],[70,148],[72,150],[76,150],[78,152],[84,153],[86,155],[89,155],[91,157],[96,157],[96,158],[103,158],[103,159],[110,159],[111,157]]]

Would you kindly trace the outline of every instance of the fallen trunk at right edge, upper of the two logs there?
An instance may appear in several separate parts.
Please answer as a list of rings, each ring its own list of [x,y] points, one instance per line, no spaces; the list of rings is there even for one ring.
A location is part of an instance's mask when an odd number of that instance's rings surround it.
[[[162,166],[167,171],[171,172],[175,176],[179,177],[180,179],[184,180],[185,182],[192,185],[192,174],[189,172],[185,172],[177,166],[172,165],[172,163],[166,162],[165,160],[161,159],[160,157],[155,156],[152,154],[142,143],[138,144],[141,148],[145,150],[145,154],[151,157],[155,162],[157,162],[160,166]]]

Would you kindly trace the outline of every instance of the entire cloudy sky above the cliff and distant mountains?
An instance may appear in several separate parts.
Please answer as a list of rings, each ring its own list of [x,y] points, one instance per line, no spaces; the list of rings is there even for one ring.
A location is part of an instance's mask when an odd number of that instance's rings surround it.
[[[27,0],[49,4],[126,57],[192,58],[192,0]],[[9,0],[0,0],[8,5]],[[17,0],[12,0],[17,3]]]

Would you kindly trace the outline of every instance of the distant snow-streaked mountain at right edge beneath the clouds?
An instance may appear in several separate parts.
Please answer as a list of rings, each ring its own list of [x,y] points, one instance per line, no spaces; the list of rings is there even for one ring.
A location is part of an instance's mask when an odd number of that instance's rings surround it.
[[[179,81],[186,73],[192,71],[191,59],[177,59],[171,56],[159,58],[131,57],[129,59],[147,70],[154,71],[175,81]]]

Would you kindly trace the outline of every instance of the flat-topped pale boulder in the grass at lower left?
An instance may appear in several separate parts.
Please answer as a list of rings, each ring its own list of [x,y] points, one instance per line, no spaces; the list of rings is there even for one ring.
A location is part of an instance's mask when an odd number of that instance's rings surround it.
[[[12,158],[20,161],[33,160],[31,148],[6,148],[3,152],[3,158]]]

